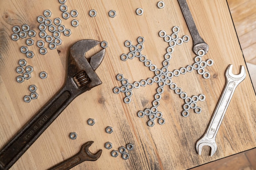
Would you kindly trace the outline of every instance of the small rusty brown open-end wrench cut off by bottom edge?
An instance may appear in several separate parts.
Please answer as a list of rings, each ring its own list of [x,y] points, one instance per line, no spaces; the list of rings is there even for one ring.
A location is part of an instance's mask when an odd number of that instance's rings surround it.
[[[82,145],[80,151],[66,159],[65,161],[58,163],[56,166],[53,166],[49,170],[70,170],[74,166],[77,166],[79,163],[83,161],[96,161],[101,156],[102,150],[99,150],[97,153],[92,153],[89,150],[89,147],[93,144],[93,141],[88,141]],[[89,168],[88,168],[89,169]]]

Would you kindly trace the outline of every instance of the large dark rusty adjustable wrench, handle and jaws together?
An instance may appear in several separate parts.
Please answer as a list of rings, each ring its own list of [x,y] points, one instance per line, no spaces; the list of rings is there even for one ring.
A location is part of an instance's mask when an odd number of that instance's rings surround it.
[[[74,98],[102,83],[95,69],[101,64],[105,49],[85,58],[85,53],[99,43],[81,40],[70,48],[63,88],[0,150],[0,170],[8,170]]]

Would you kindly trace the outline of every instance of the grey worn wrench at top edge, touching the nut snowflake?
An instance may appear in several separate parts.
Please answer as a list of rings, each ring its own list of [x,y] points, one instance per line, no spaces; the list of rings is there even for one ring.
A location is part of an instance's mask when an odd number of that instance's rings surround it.
[[[189,27],[189,32],[193,39],[193,52],[198,55],[198,51],[200,49],[204,50],[204,54],[206,54],[209,51],[209,46],[204,42],[200,34],[198,33],[198,29],[196,28],[195,22],[193,20],[193,17],[191,15],[191,11],[189,10],[189,6],[186,2],[186,0],[178,0],[180,4],[181,11],[183,13],[183,16],[186,20],[186,24]]]

